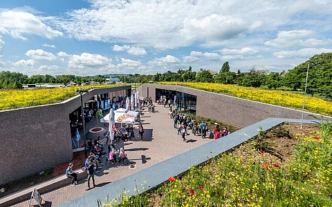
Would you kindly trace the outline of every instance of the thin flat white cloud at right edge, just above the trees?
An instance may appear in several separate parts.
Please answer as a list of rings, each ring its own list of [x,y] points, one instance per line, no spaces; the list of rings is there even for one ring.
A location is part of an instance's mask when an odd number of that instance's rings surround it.
[[[282,50],[279,52],[273,52],[273,55],[277,58],[293,58],[293,57],[305,57],[309,58],[313,55],[320,54],[322,52],[332,52],[332,49],[326,48],[302,48],[299,50]]]

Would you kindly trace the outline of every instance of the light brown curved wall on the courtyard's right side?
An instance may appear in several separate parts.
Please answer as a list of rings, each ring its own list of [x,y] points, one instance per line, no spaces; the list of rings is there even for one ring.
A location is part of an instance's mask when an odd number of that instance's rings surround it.
[[[156,101],[156,88],[176,90],[195,95],[197,97],[196,115],[235,126],[250,126],[268,117],[286,119],[301,119],[302,117],[301,110],[293,110],[183,86],[142,84],[138,88],[140,97],[147,97],[147,92],[149,91],[149,97]],[[332,117],[304,112],[304,119],[315,119],[315,117],[317,119],[332,119]]]

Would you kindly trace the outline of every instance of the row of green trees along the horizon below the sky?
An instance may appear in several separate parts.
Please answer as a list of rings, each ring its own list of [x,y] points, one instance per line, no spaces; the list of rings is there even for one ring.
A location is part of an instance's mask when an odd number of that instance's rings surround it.
[[[309,69],[309,70],[308,70]],[[306,84],[306,72],[308,70],[308,82],[306,92],[310,95],[321,95],[332,99],[332,52],[315,55],[299,64],[293,69],[283,72],[269,72],[268,70],[256,70],[251,68],[249,72],[230,71],[228,61],[223,63],[219,72],[214,70],[192,71],[190,66],[187,70],[179,69],[177,72],[168,70],[156,75],[113,75],[124,83],[148,83],[149,81],[184,81],[184,82],[204,82],[204,83],[224,83],[237,84],[246,87],[266,86],[268,89],[280,87],[291,88],[291,90],[304,91]],[[33,75],[28,77],[19,72],[0,72],[0,88],[22,88],[22,84],[28,83],[68,83],[74,81],[78,85],[88,81],[103,83],[106,78],[102,75],[98,77],[80,77],[75,75]]]

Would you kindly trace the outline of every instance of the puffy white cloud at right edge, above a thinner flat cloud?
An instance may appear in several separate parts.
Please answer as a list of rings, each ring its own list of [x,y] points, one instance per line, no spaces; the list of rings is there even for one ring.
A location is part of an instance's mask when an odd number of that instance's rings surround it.
[[[324,46],[332,42],[331,39],[311,38],[316,35],[312,30],[281,31],[276,39],[266,41],[264,44],[275,48],[298,48]]]

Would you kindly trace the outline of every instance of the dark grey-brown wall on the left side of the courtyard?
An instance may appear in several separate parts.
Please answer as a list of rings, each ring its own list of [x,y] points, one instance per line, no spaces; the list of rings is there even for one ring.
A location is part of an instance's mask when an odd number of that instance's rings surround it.
[[[131,86],[93,89],[82,99],[116,91],[130,94]],[[62,103],[0,111],[0,185],[70,161],[69,113],[80,106],[77,95]]]

